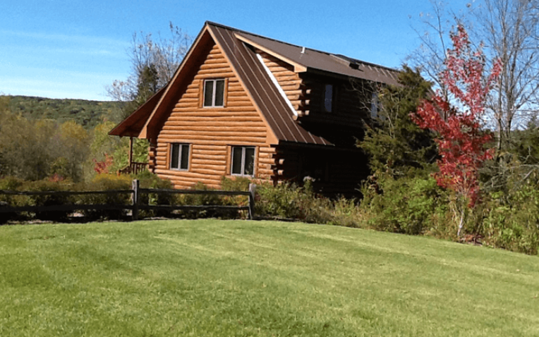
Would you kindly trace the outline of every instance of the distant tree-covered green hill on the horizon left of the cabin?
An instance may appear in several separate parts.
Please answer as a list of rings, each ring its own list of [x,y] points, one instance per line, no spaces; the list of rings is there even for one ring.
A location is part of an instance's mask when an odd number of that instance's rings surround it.
[[[123,102],[87,101],[84,99],[50,99],[42,97],[8,96],[9,109],[28,119],[54,119],[60,123],[75,121],[86,129],[94,128],[103,118],[121,109]]]

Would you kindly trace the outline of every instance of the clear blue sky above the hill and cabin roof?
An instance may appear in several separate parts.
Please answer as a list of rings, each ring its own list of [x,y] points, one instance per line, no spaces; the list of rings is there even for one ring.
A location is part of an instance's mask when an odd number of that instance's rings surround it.
[[[128,77],[133,33],[166,36],[169,22],[196,36],[210,20],[397,68],[430,8],[428,0],[1,1],[0,94],[107,100],[105,87]]]

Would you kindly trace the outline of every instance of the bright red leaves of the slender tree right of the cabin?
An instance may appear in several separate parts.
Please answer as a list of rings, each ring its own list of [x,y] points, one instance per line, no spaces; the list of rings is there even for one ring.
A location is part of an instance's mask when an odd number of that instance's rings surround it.
[[[481,121],[487,95],[502,65],[495,62],[490,75],[485,77],[483,53],[471,50],[464,27],[459,25],[451,39],[454,49],[447,51],[446,70],[441,73],[441,79],[459,108],[452,106],[438,90],[411,117],[420,128],[440,134],[437,144],[442,159],[437,163],[440,172],[435,173],[438,185],[466,197],[468,207],[473,207],[479,192],[478,169],[486,159],[492,158],[492,149],[485,149],[492,134],[482,130]]]

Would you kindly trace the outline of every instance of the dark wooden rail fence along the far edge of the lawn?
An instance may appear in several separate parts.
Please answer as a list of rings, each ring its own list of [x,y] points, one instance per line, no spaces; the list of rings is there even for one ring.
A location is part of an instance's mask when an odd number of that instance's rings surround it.
[[[53,196],[67,197],[71,195],[131,195],[131,204],[52,204],[46,206],[2,206],[0,205],[0,216],[2,213],[19,213],[19,212],[75,212],[85,210],[131,210],[133,220],[138,220],[138,214],[141,209],[152,210],[246,210],[249,214],[249,219],[255,217],[255,189],[256,185],[250,184],[248,191],[224,191],[224,190],[162,190],[153,188],[140,188],[139,180],[133,180],[131,190],[107,190],[107,191],[6,191],[0,190],[0,195],[29,195],[29,196]],[[248,196],[247,206],[228,206],[220,204],[205,204],[205,205],[178,205],[178,204],[143,204],[142,195],[152,194],[188,194],[188,195],[246,195]]]

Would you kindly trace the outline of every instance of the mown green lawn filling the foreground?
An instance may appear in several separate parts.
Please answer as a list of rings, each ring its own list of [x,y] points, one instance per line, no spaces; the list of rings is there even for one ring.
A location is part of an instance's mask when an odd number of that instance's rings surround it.
[[[539,259],[275,221],[0,226],[0,336],[539,336]]]

